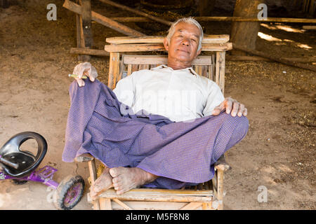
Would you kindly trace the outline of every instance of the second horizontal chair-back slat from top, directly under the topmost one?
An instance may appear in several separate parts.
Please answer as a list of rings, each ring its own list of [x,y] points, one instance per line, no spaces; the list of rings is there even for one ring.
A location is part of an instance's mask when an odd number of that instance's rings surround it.
[[[141,51],[164,51],[162,43],[143,43],[143,44],[118,44],[105,45],[107,52],[141,52]],[[207,43],[202,44],[203,51],[226,51],[232,50],[232,43]]]

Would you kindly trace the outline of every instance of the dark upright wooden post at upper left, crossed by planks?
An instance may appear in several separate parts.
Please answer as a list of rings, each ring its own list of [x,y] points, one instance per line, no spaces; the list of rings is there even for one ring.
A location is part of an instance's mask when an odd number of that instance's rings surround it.
[[[81,15],[77,16],[77,48],[91,48],[91,0],[77,0],[81,5]],[[90,55],[78,55],[79,61],[88,62]]]

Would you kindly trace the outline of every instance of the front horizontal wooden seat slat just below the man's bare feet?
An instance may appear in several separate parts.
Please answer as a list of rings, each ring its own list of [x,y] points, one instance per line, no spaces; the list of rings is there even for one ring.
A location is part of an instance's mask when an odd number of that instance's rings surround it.
[[[93,198],[109,198],[118,200],[144,202],[211,202],[213,190],[166,190],[137,188],[117,195],[114,189],[106,190]]]

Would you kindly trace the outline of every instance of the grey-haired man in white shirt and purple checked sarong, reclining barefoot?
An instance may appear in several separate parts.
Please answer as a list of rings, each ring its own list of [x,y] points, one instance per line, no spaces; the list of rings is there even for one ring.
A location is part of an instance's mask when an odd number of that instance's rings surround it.
[[[213,164],[245,137],[244,105],[224,99],[216,83],[191,67],[202,37],[196,20],[174,22],[164,39],[168,64],[136,71],[113,91],[95,80],[90,63],[74,68],[79,87],[75,82],[70,87],[63,160],[91,153],[103,162],[92,195],[112,187],[122,194],[139,186],[181,188],[209,181]]]

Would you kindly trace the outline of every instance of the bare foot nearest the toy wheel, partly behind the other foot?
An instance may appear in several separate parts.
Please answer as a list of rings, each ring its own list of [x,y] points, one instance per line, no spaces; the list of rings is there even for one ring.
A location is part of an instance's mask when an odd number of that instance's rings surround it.
[[[91,197],[94,197],[109,188],[113,188],[112,176],[109,171],[110,168],[105,167],[103,173],[96,179],[93,186],[91,186]]]

